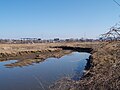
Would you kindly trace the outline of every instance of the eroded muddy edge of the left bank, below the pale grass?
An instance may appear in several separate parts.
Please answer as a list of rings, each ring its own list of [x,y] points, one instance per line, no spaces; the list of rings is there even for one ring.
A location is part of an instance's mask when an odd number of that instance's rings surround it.
[[[22,51],[19,53],[6,54],[6,56],[0,58],[0,61],[8,61],[8,60],[17,60],[14,63],[6,64],[5,66],[8,68],[11,67],[23,67],[32,65],[33,63],[40,63],[46,60],[47,58],[61,58],[64,55],[72,53],[72,50],[62,50],[62,49],[51,49],[47,48],[42,51]]]

